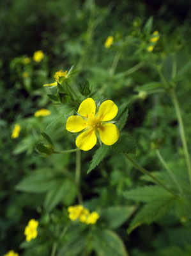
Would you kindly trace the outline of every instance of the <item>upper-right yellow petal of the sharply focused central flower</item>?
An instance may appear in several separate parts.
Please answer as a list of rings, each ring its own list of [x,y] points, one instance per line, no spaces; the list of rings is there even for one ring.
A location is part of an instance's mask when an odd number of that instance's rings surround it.
[[[100,109],[98,112],[98,117],[100,118],[100,120],[110,121],[116,116],[116,114],[118,114],[118,107],[110,99],[108,101],[104,101],[100,105]]]

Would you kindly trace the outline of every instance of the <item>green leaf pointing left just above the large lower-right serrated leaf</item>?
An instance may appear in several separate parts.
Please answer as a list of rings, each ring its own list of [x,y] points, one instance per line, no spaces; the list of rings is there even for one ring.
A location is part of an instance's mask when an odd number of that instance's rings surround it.
[[[130,191],[123,192],[123,195],[127,200],[149,202],[151,200],[157,200],[164,196],[168,196],[168,192],[158,185],[148,185],[144,187],[137,187]]]

